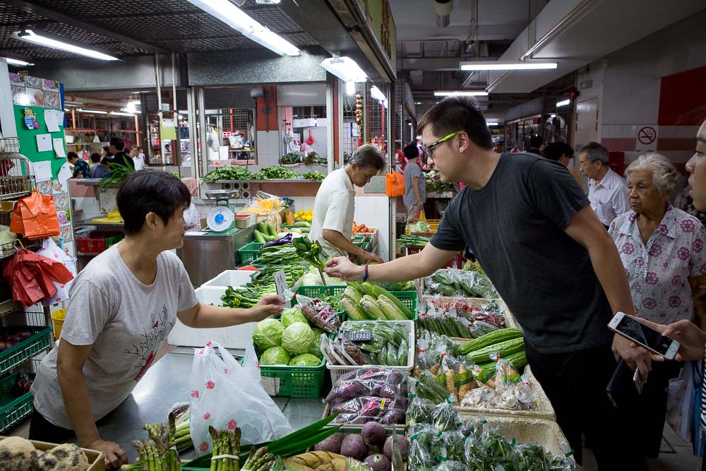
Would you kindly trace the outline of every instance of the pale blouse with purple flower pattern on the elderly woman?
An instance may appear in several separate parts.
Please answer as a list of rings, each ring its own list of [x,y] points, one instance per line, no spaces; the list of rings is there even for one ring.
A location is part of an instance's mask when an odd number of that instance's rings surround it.
[[[637,217],[635,211],[628,211],[616,217],[609,229],[628,275],[635,316],[662,324],[693,321],[688,278],[706,273],[703,225],[670,204],[645,246]]]

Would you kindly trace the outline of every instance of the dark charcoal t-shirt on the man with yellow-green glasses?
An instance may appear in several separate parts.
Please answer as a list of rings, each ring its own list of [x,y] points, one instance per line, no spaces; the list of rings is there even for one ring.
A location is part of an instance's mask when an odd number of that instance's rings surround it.
[[[588,251],[564,232],[588,205],[563,165],[503,153],[483,189],[466,186],[450,203],[431,244],[472,249],[539,352],[606,345],[611,307]]]

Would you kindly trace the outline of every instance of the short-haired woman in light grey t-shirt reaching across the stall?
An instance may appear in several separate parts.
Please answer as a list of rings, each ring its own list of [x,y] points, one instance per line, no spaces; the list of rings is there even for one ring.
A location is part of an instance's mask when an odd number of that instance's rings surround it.
[[[127,456],[100,436],[95,422],[130,395],[177,318],[193,328],[235,326],[277,314],[284,302],[268,296],[251,309],[226,309],[196,300],[172,252],[183,244],[191,195],[171,174],[134,172],[117,203],[125,239],[74,280],[59,347],[44,357],[32,385],[30,424],[30,439],[61,443],[76,436],[80,446],[102,451],[109,467]]]

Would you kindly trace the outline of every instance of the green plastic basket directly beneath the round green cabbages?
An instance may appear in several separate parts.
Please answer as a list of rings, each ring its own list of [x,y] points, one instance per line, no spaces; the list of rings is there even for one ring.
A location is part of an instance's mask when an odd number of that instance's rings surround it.
[[[259,354],[258,354],[259,357]],[[318,366],[260,365],[260,374],[265,378],[279,380],[275,395],[289,398],[321,398],[326,360]]]

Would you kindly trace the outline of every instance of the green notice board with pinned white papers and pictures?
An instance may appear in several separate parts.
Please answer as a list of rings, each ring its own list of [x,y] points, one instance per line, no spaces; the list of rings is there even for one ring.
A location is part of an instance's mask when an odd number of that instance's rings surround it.
[[[52,179],[56,179],[61,165],[66,163],[66,143],[64,142],[64,85],[43,78],[23,76],[10,73],[10,83],[13,97],[13,112],[17,127],[17,137],[20,143],[20,153],[32,162],[50,162]],[[25,111],[30,109],[33,120],[25,120]],[[56,115],[54,131],[47,128],[48,113]],[[51,117],[49,117],[51,119]],[[30,124],[36,121],[34,126]],[[47,141],[52,145],[47,150],[40,150],[37,136],[49,135]],[[64,156],[57,157],[54,150],[54,139],[61,139],[61,149]],[[36,168],[35,168],[36,172]]]

